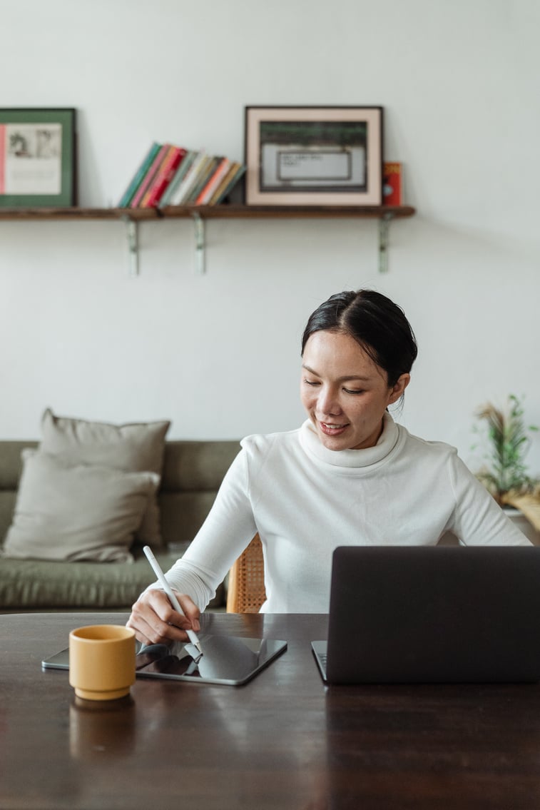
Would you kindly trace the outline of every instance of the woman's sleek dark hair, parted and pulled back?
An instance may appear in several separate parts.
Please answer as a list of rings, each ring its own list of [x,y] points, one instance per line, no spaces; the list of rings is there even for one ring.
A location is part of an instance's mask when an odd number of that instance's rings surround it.
[[[409,373],[418,354],[415,334],[405,313],[375,290],[338,292],[317,307],[302,335],[302,354],[313,332],[328,330],[351,335],[394,386]]]

